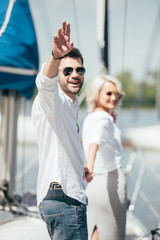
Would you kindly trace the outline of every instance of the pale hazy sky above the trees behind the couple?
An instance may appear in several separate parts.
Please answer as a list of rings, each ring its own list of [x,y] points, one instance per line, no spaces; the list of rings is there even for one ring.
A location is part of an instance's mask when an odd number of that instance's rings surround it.
[[[29,2],[37,33],[40,65],[48,59],[53,35],[66,20],[71,25],[71,40],[84,56],[85,79],[91,81],[100,71],[98,2],[103,0]],[[116,76],[122,71],[130,71],[135,80],[144,80],[148,67],[156,70],[160,66],[160,27],[154,30],[160,1],[108,0],[108,5],[109,73]]]

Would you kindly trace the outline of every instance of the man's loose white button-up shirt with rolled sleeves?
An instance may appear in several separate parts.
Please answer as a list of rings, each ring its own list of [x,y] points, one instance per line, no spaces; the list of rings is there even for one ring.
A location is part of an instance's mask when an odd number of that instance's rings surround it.
[[[86,204],[78,99],[73,103],[59,89],[57,77],[44,76],[43,66],[36,84],[32,119],[39,147],[37,203],[47,194],[50,183],[58,182],[66,195]]]

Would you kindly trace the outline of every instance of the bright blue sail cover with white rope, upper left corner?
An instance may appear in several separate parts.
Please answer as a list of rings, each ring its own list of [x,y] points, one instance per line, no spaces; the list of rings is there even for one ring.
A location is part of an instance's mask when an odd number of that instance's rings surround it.
[[[0,0],[0,89],[30,99],[39,58],[28,0]]]

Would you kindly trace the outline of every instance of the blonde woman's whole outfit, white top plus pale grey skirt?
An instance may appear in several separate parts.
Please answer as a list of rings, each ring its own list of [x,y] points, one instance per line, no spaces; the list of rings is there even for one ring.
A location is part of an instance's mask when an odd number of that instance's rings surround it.
[[[97,227],[100,240],[124,240],[126,226],[126,182],[121,169],[121,133],[112,116],[98,111],[88,114],[82,129],[84,154],[98,144],[93,180],[87,185],[89,240]]]

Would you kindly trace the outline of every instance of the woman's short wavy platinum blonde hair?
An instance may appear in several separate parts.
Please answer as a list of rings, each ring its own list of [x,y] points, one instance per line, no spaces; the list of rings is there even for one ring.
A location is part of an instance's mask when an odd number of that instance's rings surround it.
[[[112,77],[110,75],[100,75],[100,76],[96,77],[93,80],[93,82],[91,83],[91,85],[89,86],[89,90],[88,90],[87,97],[86,97],[89,111],[93,111],[95,109],[99,92],[100,92],[102,86],[106,82],[112,82],[113,84],[116,85],[117,92],[119,93],[118,105],[120,105],[121,100],[125,95],[121,83],[119,82],[119,80],[117,78]]]

